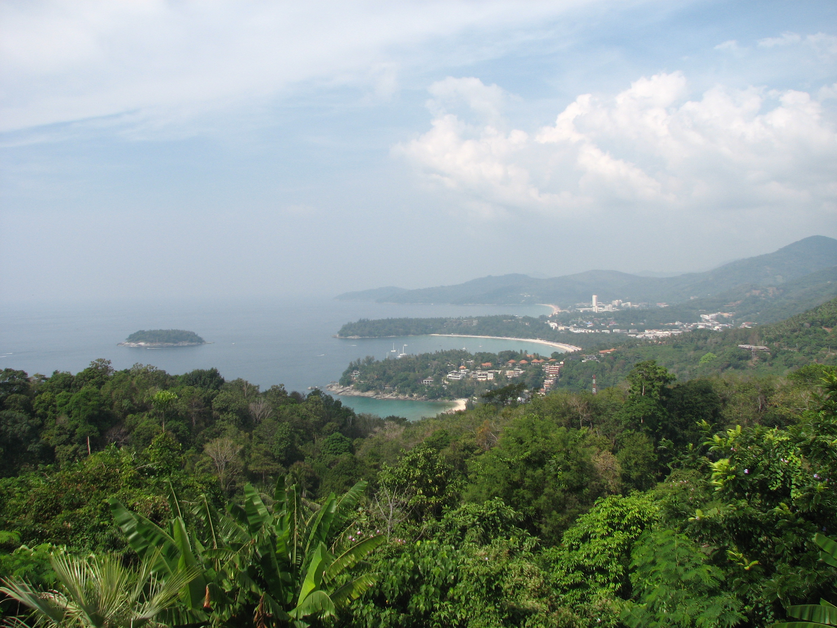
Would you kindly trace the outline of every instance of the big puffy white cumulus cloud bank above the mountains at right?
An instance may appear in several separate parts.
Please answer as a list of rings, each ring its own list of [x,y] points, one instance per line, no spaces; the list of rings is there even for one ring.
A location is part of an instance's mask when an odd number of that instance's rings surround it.
[[[473,78],[445,85],[459,94],[467,87],[478,103],[490,89]],[[817,100],[722,85],[690,99],[680,72],[642,77],[610,97],[579,95],[536,131],[466,124],[439,111],[429,131],[394,152],[484,215],[837,213],[837,133]]]

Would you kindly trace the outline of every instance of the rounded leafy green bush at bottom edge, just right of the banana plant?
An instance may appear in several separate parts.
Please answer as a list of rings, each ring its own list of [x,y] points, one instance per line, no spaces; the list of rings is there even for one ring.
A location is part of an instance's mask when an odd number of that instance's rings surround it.
[[[501,500],[463,504],[429,522],[421,538],[393,538],[372,558],[381,573],[352,606],[367,628],[555,626],[537,539]]]

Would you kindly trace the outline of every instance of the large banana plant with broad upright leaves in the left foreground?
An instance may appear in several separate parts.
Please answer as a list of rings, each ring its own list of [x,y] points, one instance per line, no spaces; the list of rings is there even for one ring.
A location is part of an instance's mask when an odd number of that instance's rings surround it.
[[[378,535],[347,543],[347,535],[341,534],[365,488],[366,482],[358,482],[342,497],[332,493],[317,507],[302,499],[298,486],[285,486],[281,478],[268,503],[248,484],[244,504],[229,503],[227,513],[215,512],[202,498],[193,515],[203,524],[203,538],[193,532],[191,541],[176,499],[172,511],[177,516],[167,530],[116,500],[110,507],[137,553],[159,548],[158,569],[193,564],[202,570],[202,577],[183,590],[185,612],[175,623],[205,620],[210,610],[228,619],[253,608],[259,628],[271,623],[301,627],[308,625],[306,618],[336,615],[377,582],[378,574],[362,574],[339,584],[348,569],[384,540]]]

